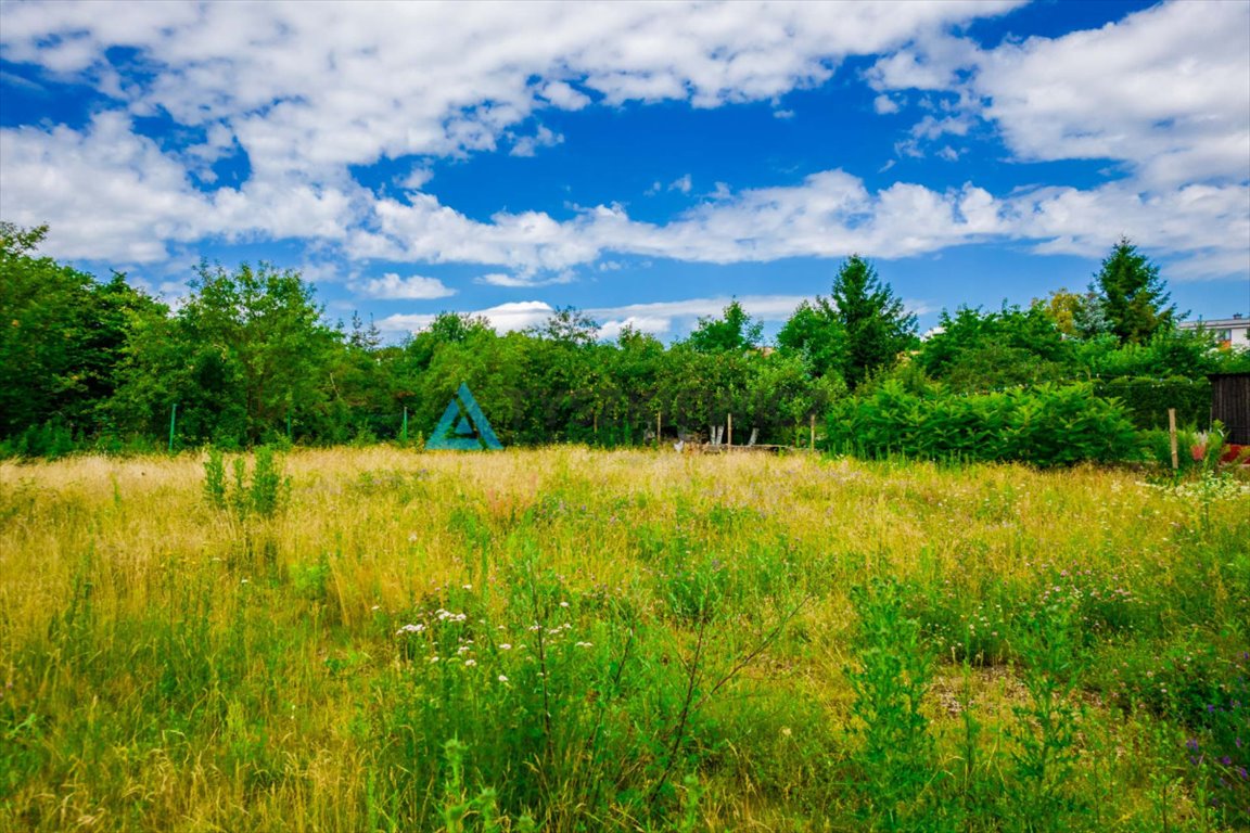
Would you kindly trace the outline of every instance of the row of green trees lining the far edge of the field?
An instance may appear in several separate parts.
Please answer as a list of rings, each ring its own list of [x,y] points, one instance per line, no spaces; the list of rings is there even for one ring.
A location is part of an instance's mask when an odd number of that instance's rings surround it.
[[[920,338],[890,285],[851,256],[774,343],[736,301],[670,345],[618,338],[575,308],[525,331],[444,312],[400,345],[325,317],[299,272],[201,262],[176,308],[114,272],[38,255],[46,226],[0,224],[0,453],[420,440],[468,382],[505,445],[638,445],[732,415],[736,442],[790,443],[881,385],[981,392],[1074,380],[1201,380],[1245,353],[1180,317],[1128,240],[1084,293],[960,307]],[[1121,385],[1118,391],[1122,396]],[[172,423],[172,425],[171,425]]]

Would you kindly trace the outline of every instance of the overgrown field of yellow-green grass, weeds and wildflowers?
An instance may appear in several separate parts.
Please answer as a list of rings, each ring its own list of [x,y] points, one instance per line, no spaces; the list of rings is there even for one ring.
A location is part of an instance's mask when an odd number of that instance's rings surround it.
[[[1235,480],[238,465],[0,463],[0,829],[1250,823]]]

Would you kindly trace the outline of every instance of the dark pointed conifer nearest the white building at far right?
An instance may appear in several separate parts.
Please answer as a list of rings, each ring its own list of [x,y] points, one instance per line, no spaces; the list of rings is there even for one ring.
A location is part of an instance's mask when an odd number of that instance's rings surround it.
[[[1159,267],[1121,237],[1094,276],[1090,291],[1098,297],[1108,326],[1120,343],[1140,345],[1156,332],[1171,330],[1176,307],[1159,276]]]

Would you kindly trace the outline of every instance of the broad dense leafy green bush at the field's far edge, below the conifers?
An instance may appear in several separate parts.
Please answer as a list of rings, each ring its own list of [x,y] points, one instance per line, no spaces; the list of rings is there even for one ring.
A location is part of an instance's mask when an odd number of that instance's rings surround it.
[[[836,406],[826,436],[830,450],[868,457],[1069,466],[1136,453],[1124,408],[1090,385],[954,396],[941,388],[909,393],[886,382],[870,397]]]

